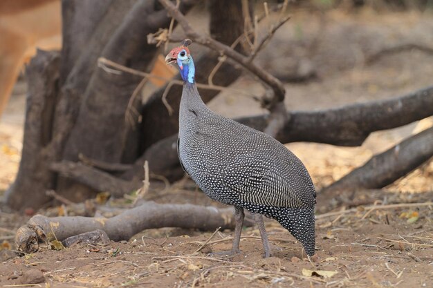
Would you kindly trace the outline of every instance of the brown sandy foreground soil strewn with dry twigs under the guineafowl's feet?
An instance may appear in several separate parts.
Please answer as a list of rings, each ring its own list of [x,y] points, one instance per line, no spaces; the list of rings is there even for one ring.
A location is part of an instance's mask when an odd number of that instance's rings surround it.
[[[433,193],[383,196],[390,202],[422,203]],[[195,198],[194,202],[208,204],[205,197],[174,185],[158,202]],[[9,220],[24,220],[12,215]],[[404,205],[318,215],[314,263],[273,220],[266,222],[272,247],[267,259],[262,258],[255,227],[243,229],[241,253],[232,258],[210,256],[230,249],[231,231],[216,233],[203,247],[212,233],[173,228],[145,231],[128,242],[77,244],[61,251],[43,248],[21,258],[3,250],[3,258],[10,259],[0,266],[0,282],[28,284],[44,276],[53,287],[432,287],[432,219],[432,207]]]

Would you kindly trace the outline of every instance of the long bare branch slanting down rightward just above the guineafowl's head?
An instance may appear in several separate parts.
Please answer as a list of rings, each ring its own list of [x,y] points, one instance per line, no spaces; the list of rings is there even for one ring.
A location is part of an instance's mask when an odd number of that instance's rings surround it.
[[[202,44],[203,46],[207,46],[220,52],[221,54],[227,55],[234,61],[237,61],[239,64],[241,64],[241,66],[249,70],[251,73],[257,75],[257,77],[261,79],[261,81],[270,86],[273,89],[274,93],[273,101],[270,102],[270,106],[273,106],[277,102],[281,102],[284,100],[284,95],[286,94],[286,91],[281,81],[279,81],[277,78],[273,77],[273,75],[270,75],[263,69],[259,68],[259,66],[255,65],[254,63],[250,63],[250,61],[248,61],[248,57],[241,55],[239,52],[236,52],[229,46],[221,44],[219,41],[216,41],[206,35],[200,35],[198,32],[192,29],[190,23],[187,21],[185,16],[178,9],[176,9],[176,6],[174,6],[173,3],[169,0],[159,1],[167,9],[169,14],[172,15],[172,17],[174,17],[174,19],[176,19],[178,23],[182,26],[187,37],[190,37],[192,40],[196,41],[199,44]]]

